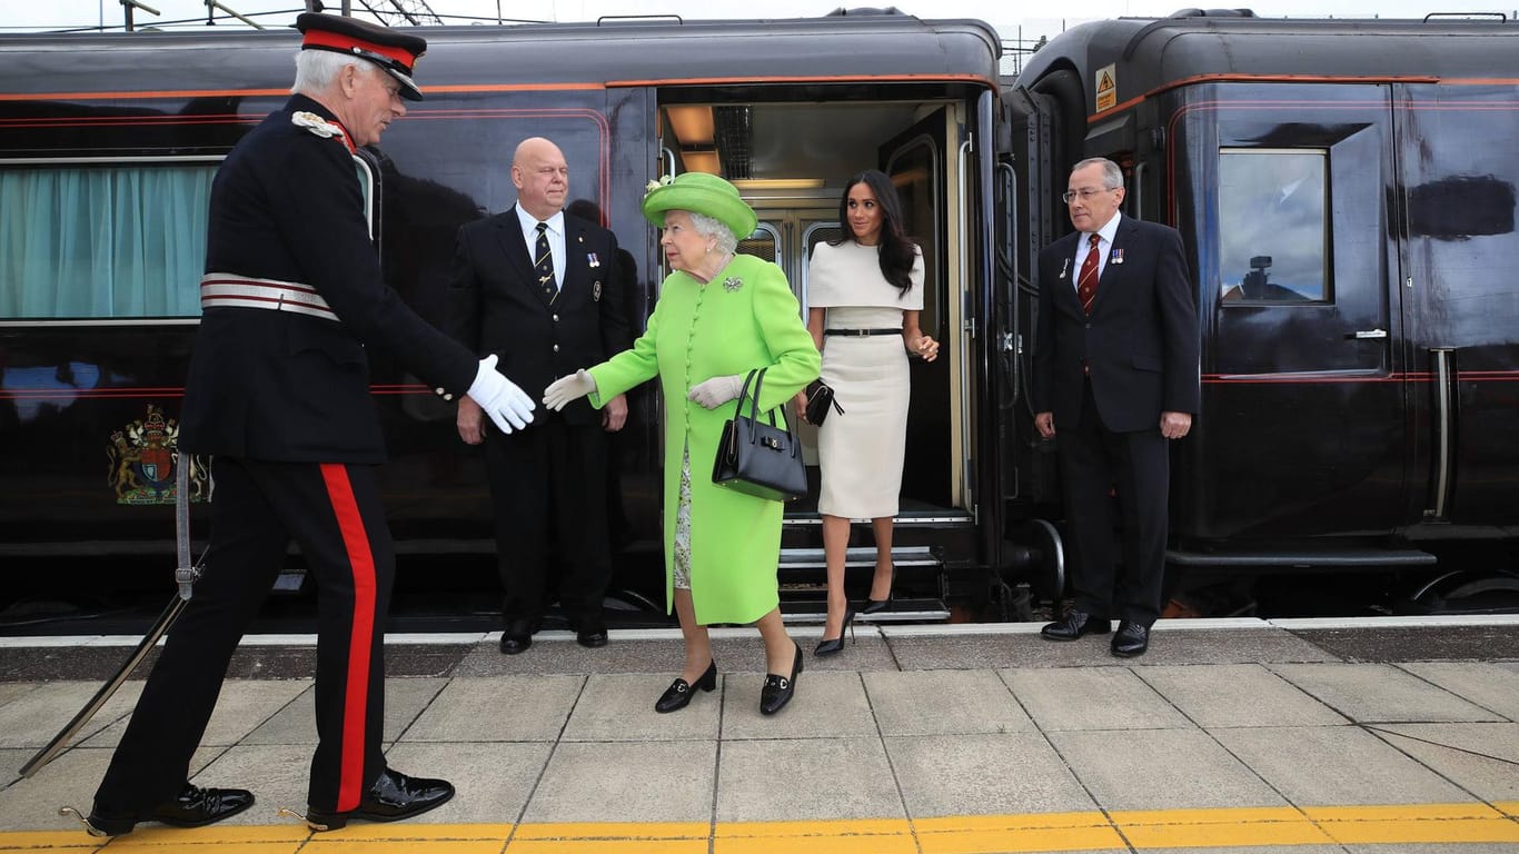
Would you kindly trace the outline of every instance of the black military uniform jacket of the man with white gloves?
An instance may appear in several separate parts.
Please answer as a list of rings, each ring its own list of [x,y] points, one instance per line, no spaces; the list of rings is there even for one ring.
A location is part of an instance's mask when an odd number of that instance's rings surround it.
[[[478,363],[384,284],[346,143],[298,126],[296,112],[336,122],[296,94],[232,147],[211,185],[205,269],[307,284],[337,321],[207,308],[181,442],[258,460],[383,462],[365,346],[450,394],[468,391]]]

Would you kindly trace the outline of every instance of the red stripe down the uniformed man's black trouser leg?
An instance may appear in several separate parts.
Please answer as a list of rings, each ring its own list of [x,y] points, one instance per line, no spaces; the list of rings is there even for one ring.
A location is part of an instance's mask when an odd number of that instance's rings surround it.
[[[343,745],[337,777],[337,811],[358,808],[365,790],[365,723],[369,713],[369,658],[375,626],[375,561],[369,535],[348,482],[348,467],[322,463],[327,497],[337,515],[348,565],[354,573],[354,626],[348,638],[348,676],[343,690]]]

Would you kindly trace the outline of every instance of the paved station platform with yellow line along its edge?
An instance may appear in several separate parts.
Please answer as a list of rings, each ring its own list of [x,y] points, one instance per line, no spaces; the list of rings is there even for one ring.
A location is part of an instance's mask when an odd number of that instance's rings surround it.
[[[673,631],[518,656],[389,638],[387,755],[459,796],[322,834],[275,813],[305,805],[311,638],[251,637],[194,781],[258,804],[108,845],[56,810],[88,808],[140,681],[18,769],[135,638],[0,638],[0,851],[1519,852],[1519,618],[1170,622],[1139,659],[1028,625],[869,626],[808,655],[775,717],[756,632],[714,637],[718,690],[676,714],[653,711]]]

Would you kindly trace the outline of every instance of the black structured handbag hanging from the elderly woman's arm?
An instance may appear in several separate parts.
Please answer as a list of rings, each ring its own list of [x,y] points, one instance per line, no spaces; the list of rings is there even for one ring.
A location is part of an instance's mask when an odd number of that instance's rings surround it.
[[[764,383],[764,368],[750,371],[738,392],[738,412],[723,425],[723,438],[717,445],[717,460],[712,462],[712,483],[737,489],[746,495],[772,501],[791,501],[807,494],[807,460],[802,459],[802,442],[791,432],[781,410],[781,424],[760,419],[760,384]],[[755,391],[749,395],[749,383]],[[749,397],[749,413],[744,413],[744,397]]]

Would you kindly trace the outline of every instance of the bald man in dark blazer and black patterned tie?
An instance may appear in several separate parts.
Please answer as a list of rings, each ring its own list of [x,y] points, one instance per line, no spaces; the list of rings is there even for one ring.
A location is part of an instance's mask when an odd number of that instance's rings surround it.
[[[541,137],[518,144],[512,184],[512,210],[459,229],[448,330],[475,353],[498,356],[501,371],[542,397],[556,378],[632,346],[621,254],[600,223],[564,213],[570,167],[559,146]],[[501,652],[532,646],[554,593],[550,579],[564,580],[554,587],[580,644],[606,644],[606,433],[626,419],[623,397],[602,412],[579,401],[506,435],[486,425],[472,401],[459,401],[459,436],[486,447],[506,591]],[[564,567],[562,579],[550,564]]]

